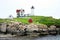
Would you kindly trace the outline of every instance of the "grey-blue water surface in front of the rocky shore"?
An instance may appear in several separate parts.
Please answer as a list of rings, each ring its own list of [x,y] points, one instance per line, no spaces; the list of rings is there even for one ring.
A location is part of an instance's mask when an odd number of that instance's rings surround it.
[[[60,40],[60,35],[47,35],[47,36],[38,36],[38,37],[30,37],[30,36],[20,36],[20,37],[0,37],[0,40]]]

